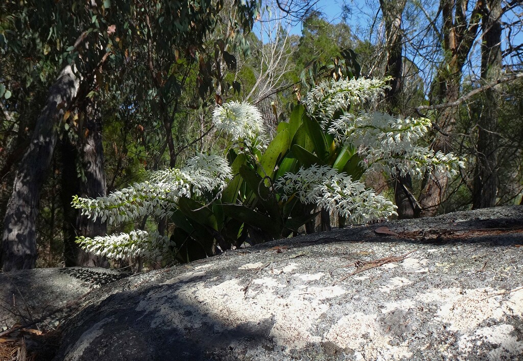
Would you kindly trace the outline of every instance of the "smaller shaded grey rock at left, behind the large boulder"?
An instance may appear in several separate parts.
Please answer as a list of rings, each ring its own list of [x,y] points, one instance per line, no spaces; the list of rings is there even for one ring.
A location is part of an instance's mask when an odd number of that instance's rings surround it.
[[[89,291],[126,275],[104,268],[37,268],[0,273],[0,330],[63,308]],[[55,326],[69,310],[44,320]]]

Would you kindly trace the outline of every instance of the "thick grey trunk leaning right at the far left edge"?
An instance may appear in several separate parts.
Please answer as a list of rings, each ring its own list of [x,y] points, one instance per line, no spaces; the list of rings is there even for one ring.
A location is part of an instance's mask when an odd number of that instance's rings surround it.
[[[57,125],[73,103],[81,79],[67,65],[49,89],[31,143],[22,157],[7,204],[0,262],[4,271],[35,267],[36,218],[40,189],[46,179],[56,144]]]

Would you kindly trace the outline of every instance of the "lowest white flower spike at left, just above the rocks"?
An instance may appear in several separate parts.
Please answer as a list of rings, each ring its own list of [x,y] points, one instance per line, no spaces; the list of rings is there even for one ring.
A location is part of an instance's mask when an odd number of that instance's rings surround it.
[[[147,233],[139,229],[129,234],[120,233],[94,238],[78,237],[76,243],[85,251],[109,259],[140,256],[160,261],[170,253],[169,238],[157,232]]]

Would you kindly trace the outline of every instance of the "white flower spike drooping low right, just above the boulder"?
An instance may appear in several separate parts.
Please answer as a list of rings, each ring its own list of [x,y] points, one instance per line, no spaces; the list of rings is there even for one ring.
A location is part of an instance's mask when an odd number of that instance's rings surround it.
[[[328,166],[314,165],[300,168],[297,173],[286,173],[275,186],[283,193],[283,200],[297,196],[300,202],[317,204],[346,217],[350,223],[397,215],[396,206],[383,195],[366,189],[365,184]]]

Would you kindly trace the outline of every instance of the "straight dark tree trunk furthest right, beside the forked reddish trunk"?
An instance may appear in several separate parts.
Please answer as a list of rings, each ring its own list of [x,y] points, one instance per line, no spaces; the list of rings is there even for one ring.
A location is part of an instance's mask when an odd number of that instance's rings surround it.
[[[490,83],[502,72],[501,0],[485,0],[481,28],[481,79]],[[497,122],[498,96],[495,88],[484,91],[484,101],[478,119],[476,168],[472,189],[472,207],[486,208],[496,204],[497,194]]]

